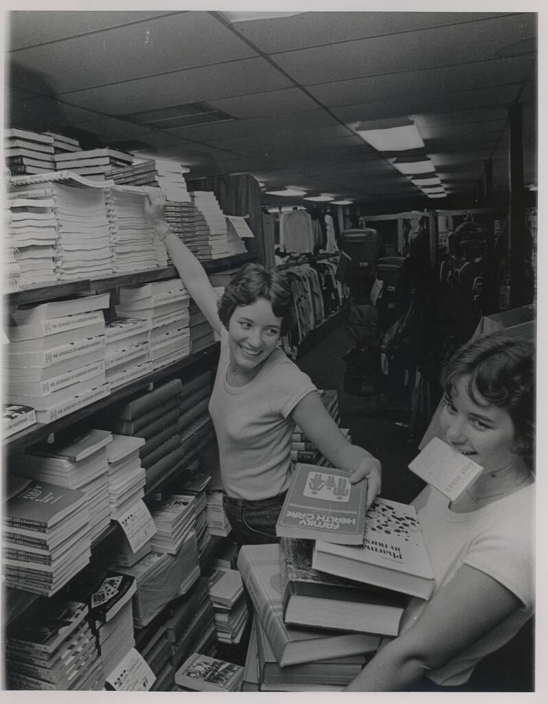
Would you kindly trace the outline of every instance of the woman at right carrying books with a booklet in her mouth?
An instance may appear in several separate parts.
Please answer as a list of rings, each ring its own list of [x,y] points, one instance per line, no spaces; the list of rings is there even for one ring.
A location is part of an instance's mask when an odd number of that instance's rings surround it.
[[[533,615],[533,345],[495,333],[450,361],[440,437],[483,471],[448,503],[427,486],[414,501],[435,577],[412,598],[400,633],[348,691],[466,691],[474,666]]]

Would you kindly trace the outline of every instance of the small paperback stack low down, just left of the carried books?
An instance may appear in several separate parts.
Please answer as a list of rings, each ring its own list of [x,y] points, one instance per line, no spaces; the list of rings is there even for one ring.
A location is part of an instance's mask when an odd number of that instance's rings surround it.
[[[238,570],[209,567],[203,572],[209,582],[215,610],[215,629],[220,643],[239,643],[248,623],[246,596]]]

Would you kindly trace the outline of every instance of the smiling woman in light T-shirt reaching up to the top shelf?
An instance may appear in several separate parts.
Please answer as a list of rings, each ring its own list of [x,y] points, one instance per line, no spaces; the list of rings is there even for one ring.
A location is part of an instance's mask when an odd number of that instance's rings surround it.
[[[291,435],[299,425],[350,482],[367,479],[367,505],[381,490],[381,464],[350,444],[317,389],[279,348],[291,327],[291,287],[279,272],[244,265],[217,298],[203,266],[165,221],[160,189],[145,210],[189,294],[221,337],[210,399],[219,444],[223,505],[238,543],[277,542],[276,520],[291,476]]]

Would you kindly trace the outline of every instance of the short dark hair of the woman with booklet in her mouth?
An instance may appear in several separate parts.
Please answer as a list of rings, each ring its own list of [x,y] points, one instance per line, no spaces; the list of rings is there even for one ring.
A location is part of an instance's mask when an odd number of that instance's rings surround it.
[[[516,431],[514,450],[533,451],[535,434],[535,348],[519,337],[494,332],[467,342],[442,372],[442,387],[452,396],[457,379],[470,375],[468,393],[474,403],[504,408]],[[485,400],[484,400],[485,399]]]

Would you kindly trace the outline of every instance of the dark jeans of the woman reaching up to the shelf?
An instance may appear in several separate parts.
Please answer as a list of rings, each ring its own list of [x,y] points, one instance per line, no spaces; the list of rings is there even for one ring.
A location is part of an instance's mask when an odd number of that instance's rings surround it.
[[[284,498],[286,491],[260,501],[246,501],[223,494],[222,505],[232,527],[231,538],[240,545],[278,543],[276,521]]]

